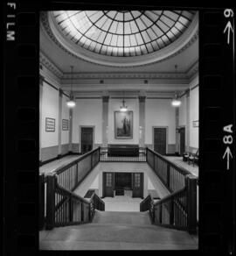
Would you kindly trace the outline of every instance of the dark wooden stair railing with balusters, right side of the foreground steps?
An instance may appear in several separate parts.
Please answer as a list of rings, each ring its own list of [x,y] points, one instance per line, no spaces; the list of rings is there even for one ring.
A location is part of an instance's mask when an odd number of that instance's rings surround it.
[[[197,181],[186,175],[186,186],[155,202],[149,195],[140,203],[140,210],[149,210],[153,224],[172,229],[197,232]]]

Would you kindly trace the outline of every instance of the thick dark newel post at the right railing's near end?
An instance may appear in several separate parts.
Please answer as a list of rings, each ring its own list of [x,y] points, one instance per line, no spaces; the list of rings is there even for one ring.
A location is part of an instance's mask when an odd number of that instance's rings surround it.
[[[188,231],[192,234],[197,232],[197,182],[198,177],[186,175]]]

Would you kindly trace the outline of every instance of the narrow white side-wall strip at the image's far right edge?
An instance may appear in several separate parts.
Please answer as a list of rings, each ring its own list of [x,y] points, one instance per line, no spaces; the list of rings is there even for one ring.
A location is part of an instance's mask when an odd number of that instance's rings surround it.
[[[192,87],[191,87],[192,88]],[[190,146],[198,148],[198,127],[193,127],[192,121],[199,120],[199,89],[196,87],[190,92]]]

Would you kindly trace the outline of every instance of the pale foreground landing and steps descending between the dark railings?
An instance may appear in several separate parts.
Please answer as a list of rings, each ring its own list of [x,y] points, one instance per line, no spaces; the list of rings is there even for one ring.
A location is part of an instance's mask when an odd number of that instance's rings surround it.
[[[39,232],[40,250],[194,250],[197,236],[151,224],[149,212],[95,210],[93,223]]]

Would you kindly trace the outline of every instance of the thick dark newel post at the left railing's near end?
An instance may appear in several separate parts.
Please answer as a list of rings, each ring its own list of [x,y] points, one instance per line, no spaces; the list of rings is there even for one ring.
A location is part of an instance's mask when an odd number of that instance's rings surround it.
[[[46,230],[52,230],[55,224],[55,188],[57,177],[55,174],[46,176]]]

